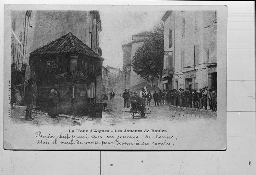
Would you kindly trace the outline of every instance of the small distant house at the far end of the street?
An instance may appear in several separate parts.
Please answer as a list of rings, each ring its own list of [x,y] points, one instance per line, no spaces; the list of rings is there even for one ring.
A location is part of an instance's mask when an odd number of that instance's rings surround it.
[[[106,66],[109,71],[109,90],[115,94],[123,92],[123,71],[120,68]]]

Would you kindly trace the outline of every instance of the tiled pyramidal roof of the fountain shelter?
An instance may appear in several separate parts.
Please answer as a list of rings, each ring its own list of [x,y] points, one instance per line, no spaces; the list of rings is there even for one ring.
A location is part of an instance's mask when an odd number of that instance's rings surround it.
[[[31,52],[31,55],[70,53],[103,59],[71,32]]]

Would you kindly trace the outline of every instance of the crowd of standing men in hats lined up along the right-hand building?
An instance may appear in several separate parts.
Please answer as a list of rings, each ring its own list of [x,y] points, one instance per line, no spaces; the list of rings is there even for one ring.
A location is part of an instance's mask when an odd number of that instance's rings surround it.
[[[130,90],[125,89],[123,93],[124,108],[130,107],[130,96]],[[150,106],[153,97],[155,106],[172,105],[217,111],[217,89],[215,89],[215,87],[211,89],[204,87],[203,90],[199,89],[198,91],[188,87],[186,89],[180,88],[179,90],[163,89],[159,90],[158,93],[155,91],[153,95],[150,91],[146,93],[144,89],[141,89],[139,94],[137,93],[137,96],[139,105],[143,107]],[[209,106],[209,108],[207,108],[207,106]]]

